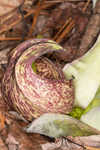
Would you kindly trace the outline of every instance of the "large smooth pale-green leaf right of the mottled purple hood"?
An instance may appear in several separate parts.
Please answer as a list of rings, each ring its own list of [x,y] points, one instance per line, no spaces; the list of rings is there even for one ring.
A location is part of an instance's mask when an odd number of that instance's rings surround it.
[[[66,78],[74,78],[75,105],[86,108],[100,86],[100,38],[84,56],[66,64]]]

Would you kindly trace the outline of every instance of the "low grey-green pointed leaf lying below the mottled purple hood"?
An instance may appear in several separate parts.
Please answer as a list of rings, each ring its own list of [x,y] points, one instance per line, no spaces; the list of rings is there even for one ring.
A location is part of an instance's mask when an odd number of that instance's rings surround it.
[[[24,131],[49,137],[89,136],[100,134],[94,128],[68,115],[47,113],[35,119]]]

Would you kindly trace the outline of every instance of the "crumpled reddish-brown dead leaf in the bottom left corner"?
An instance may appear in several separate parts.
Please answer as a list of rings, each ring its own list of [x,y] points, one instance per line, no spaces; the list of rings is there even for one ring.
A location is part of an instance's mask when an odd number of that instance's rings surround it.
[[[1,112],[0,112],[1,113]],[[0,126],[0,150],[42,150],[41,144],[48,139],[39,134],[26,134],[23,132],[25,123],[15,121],[13,115],[4,112],[5,127]]]

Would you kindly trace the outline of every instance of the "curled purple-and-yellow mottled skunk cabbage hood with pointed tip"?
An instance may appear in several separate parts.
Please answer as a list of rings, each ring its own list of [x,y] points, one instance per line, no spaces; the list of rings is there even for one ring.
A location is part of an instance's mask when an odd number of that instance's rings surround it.
[[[40,62],[38,59],[53,51],[62,52],[64,49],[53,41],[34,39],[20,44],[10,56],[2,80],[2,95],[10,109],[21,113],[27,120],[46,112],[68,113],[72,109],[72,81],[66,81],[59,68],[48,59]],[[33,72],[32,63],[35,61],[37,65],[42,63],[45,66],[41,75]],[[38,65],[39,73],[42,67]]]

